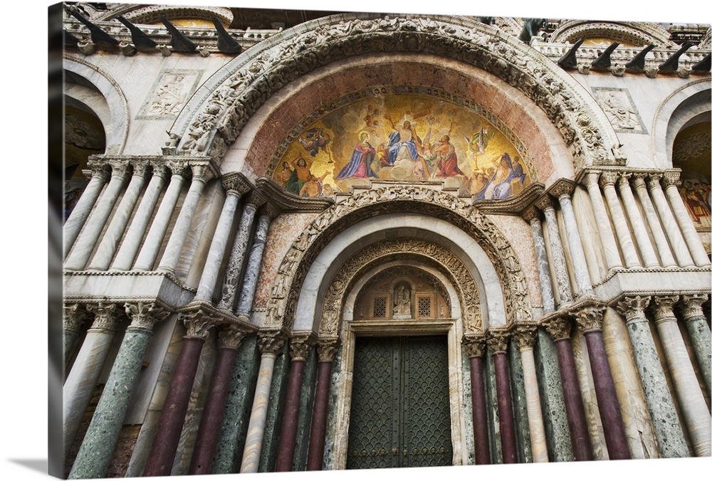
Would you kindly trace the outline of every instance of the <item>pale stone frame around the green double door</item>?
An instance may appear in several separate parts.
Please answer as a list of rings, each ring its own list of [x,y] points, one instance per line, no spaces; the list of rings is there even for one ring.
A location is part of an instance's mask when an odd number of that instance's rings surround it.
[[[353,388],[353,366],[357,337],[402,337],[446,334],[448,387],[450,398],[450,433],[453,465],[466,464],[464,382],[462,379],[462,323],[459,318],[417,320],[388,319],[344,321],[341,334],[340,376],[336,406],[334,469],[346,469]]]

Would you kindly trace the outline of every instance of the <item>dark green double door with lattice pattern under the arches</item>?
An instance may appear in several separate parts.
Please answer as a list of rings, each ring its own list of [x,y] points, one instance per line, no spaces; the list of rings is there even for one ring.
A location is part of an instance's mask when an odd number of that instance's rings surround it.
[[[359,337],[347,469],[452,464],[445,337]]]

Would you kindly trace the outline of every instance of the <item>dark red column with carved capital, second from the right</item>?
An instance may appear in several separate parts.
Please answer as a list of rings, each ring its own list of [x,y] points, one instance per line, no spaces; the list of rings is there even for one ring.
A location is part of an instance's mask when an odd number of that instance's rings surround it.
[[[545,324],[545,328],[554,339],[556,345],[561,387],[564,393],[564,406],[566,407],[566,419],[569,424],[574,458],[577,461],[589,461],[592,459],[591,441],[588,438],[586,414],[576,374],[574,352],[570,338],[571,327],[567,319],[557,317],[549,319]]]

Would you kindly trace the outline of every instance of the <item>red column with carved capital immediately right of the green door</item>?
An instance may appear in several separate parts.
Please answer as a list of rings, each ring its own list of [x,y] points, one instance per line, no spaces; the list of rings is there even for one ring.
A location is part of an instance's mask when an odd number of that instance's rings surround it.
[[[465,351],[470,358],[470,389],[472,393],[472,430],[475,438],[475,464],[490,463],[487,435],[487,406],[482,375],[483,339],[465,339]]]

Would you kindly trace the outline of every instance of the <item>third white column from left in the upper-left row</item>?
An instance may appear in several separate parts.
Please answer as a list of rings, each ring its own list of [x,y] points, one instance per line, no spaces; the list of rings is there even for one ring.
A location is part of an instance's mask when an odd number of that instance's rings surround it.
[[[87,269],[107,270],[146,181],[148,163],[130,161],[133,174]]]

